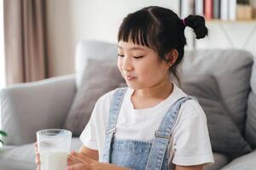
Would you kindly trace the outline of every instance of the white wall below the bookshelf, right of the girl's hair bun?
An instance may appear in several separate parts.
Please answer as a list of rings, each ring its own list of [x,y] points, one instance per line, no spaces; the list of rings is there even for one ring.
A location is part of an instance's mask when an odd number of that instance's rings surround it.
[[[256,20],[207,22],[209,36],[197,40],[196,48],[240,48],[256,55]]]

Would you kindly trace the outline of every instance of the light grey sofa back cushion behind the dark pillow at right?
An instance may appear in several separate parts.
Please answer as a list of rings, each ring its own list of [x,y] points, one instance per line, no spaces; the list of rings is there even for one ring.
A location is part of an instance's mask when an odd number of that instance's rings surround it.
[[[186,51],[182,64],[183,77],[212,74],[216,77],[224,105],[237,127],[244,127],[247,95],[253,55],[239,49],[201,49]]]

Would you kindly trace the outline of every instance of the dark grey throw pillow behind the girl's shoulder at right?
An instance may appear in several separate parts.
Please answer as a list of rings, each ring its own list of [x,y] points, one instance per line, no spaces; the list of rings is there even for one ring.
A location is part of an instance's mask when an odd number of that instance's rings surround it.
[[[231,157],[241,156],[251,151],[223,105],[214,76],[189,77],[183,80],[182,88],[186,94],[198,99],[206,113],[213,151]]]

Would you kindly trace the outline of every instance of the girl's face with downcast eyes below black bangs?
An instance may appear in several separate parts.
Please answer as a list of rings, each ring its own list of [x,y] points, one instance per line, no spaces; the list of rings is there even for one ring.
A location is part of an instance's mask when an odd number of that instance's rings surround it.
[[[119,41],[118,54],[119,71],[130,88],[152,88],[169,77],[170,65],[151,48]]]

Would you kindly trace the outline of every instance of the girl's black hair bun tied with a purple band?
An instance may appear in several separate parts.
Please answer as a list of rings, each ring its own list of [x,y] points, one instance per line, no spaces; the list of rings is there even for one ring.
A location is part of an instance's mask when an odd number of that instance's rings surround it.
[[[189,26],[194,30],[196,39],[204,38],[208,35],[206,20],[200,15],[189,14],[181,22],[183,26]]]

